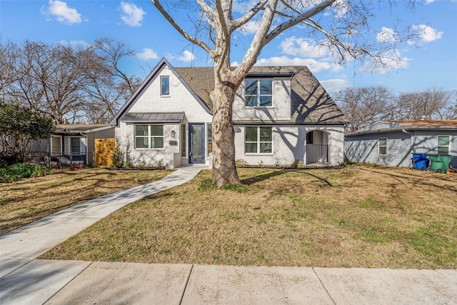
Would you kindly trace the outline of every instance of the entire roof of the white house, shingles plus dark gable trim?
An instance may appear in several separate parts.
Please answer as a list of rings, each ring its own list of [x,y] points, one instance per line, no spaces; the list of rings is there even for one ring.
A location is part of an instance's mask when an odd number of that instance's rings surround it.
[[[210,93],[214,90],[214,67],[174,68],[166,59],[162,59],[131,99],[116,114],[111,121],[112,125],[119,124],[119,119],[128,111],[130,104],[147,89],[164,65],[174,71],[184,86],[194,94],[196,100],[212,114],[213,103]],[[253,66],[249,76],[291,77],[291,121],[284,121],[285,124],[344,124],[348,121],[306,66]]]

